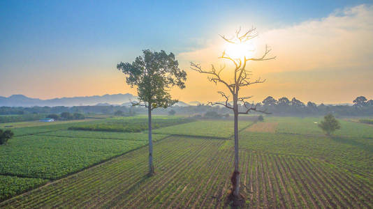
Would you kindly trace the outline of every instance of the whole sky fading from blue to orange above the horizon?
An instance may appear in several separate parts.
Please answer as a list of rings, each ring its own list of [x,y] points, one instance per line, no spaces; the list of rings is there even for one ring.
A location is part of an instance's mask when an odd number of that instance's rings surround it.
[[[186,70],[184,102],[221,100],[205,75],[190,70],[221,65],[219,36],[255,27],[256,52],[275,60],[251,62],[264,84],[242,89],[304,102],[373,98],[373,1],[0,1],[0,95],[61,98],[133,93],[117,63],[142,49],[173,52]],[[229,70],[229,69],[228,69]],[[229,71],[227,71],[229,74]]]

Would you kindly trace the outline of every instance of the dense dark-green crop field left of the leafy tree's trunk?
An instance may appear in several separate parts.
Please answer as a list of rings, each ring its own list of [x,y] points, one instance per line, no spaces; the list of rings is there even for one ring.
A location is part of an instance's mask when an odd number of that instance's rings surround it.
[[[145,121],[146,118],[12,123],[10,130],[15,137],[6,146],[0,146],[0,200],[145,146],[147,133],[68,130],[72,125],[133,119]],[[157,134],[153,139],[165,137],[168,135]]]

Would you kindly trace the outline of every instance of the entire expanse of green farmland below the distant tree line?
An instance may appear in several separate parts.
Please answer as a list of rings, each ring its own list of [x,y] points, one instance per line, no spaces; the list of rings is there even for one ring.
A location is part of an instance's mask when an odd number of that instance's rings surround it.
[[[3,201],[0,208],[227,208],[233,122],[177,124],[175,117],[159,118],[173,124],[162,122],[169,126],[153,131],[151,178],[146,130],[68,130],[115,120],[141,124],[144,116],[17,128],[22,136],[0,146],[2,184],[14,185],[2,187],[2,199],[66,177]],[[339,120],[341,130],[326,137],[314,123],[321,120],[240,121],[244,208],[373,208],[373,127]]]

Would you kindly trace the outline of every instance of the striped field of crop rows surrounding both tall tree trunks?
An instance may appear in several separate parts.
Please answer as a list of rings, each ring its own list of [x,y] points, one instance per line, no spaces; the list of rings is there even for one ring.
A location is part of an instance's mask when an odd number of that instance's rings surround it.
[[[224,141],[170,137],[3,202],[25,208],[225,208],[233,150]],[[309,157],[240,150],[247,208],[372,208],[372,183]],[[66,201],[68,200],[68,201]]]

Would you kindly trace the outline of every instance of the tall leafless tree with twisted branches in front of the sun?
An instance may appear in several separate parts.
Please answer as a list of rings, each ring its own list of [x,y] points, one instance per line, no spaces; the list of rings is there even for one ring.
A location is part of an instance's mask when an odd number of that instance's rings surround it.
[[[242,45],[244,42],[250,41],[251,39],[258,36],[256,33],[256,29],[250,29],[249,31],[246,31],[244,33],[241,33],[241,29],[238,29],[235,33],[235,36],[233,38],[226,38],[225,36],[221,36],[228,44],[232,45]],[[245,55],[242,55],[240,58],[235,58],[229,56],[229,54],[224,51],[221,56],[219,56],[219,59],[225,59],[233,63],[235,66],[234,68],[234,81],[229,82],[228,80],[224,80],[221,77],[221,72],[226,68],[226,65],[222,68],[215,68],[214,65],[212,65],[211,70],[203,70],[199,64],[191,63],[191,69],[196,70],[197,72],[207,74],[207,79],[210,82],[214,82],[215,84],[224,84],[226,88],[228,88],[228,91],[230,94],[226,94],[223,91],[218,91],[218,93],[224,98],[225,102],[209,102],[208,104],[211,105],[223,105],[224,107],[233,110],[234,113],[234,131],[235,131],[235,170],[233,171],[231,181],[232,181],[232,189],[231,193],[228,196],[229,201],[233,201],[233,205],[238,206],[242,203],[242,198],[240,195],[240,169],[239,169],[239,158],[238,158],[238,115],[239,114],[249,114],[250,111],[259,111],[262,113],[267,114],[266,111],[261,111],[259,109],[256,109],[257,104],[254,104],[252,102],[251,104],[247,102],[251,96],[240,96],[239,92],[240,89],[245,86],[250,86],[252,84],[261,84],[265,82],[265,79],[254,79],[251,80],[251,72],[249,70],[246,70],[247,63],[249,61],[267,61],[270,59],[275,59],[275,56],[268,57],[268,54],[270,53],[271,49],[267,46],[265,46],[265,52],[263,56],[259,58],[251,58],[247,57]],[[229,104],[230,96],[233,97],[233,107],[231,104]],[[238,109],[238,102],[242,103],[243,106],[246,108],[244,111],[239,111]]]

